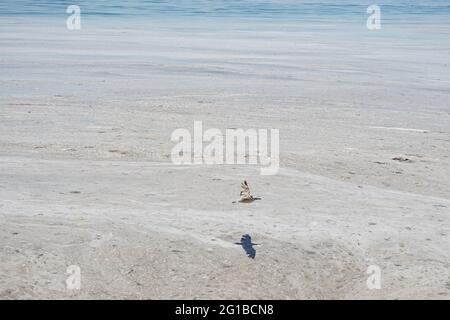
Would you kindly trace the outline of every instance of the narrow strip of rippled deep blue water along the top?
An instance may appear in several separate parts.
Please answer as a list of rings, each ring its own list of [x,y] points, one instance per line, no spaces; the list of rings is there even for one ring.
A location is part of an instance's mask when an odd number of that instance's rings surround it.
[[[60,16],[66,15],[67,6],[78,5],[87,16],[304,20],[364,18],[371,4],[379,5],[385,18],[450,17],[449,0],[2,0],[0,16]]]

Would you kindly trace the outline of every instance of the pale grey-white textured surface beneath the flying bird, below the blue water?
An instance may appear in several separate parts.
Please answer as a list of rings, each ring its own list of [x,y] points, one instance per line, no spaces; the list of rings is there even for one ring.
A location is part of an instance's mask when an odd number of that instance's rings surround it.
[[[448,27],[58,23],[0,23],[0,298],[449,298]],[[194,120],[280,173],[173,166]]]

